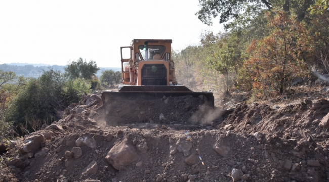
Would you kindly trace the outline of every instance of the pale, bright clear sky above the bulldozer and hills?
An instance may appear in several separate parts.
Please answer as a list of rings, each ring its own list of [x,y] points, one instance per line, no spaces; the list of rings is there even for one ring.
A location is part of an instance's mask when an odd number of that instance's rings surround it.
[[[204,25],[194,14],[198,0],[0,1],[0,64],[66,65],[94,60],[120,67],[119,47],[134,38],[173,39],[181,50],[197,44]]]

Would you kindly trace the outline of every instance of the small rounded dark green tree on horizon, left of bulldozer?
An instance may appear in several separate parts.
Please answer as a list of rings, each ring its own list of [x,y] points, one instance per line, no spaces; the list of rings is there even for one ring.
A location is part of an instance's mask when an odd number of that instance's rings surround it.
[[[67,75],[71,79],[76,78],[85,78],[92,79],[92,76],[97,73],[100,69],[97,67],[95,61],[90,60],[90,62],[84,61],[81,57],[76,60],[68,63],[65,69],[65,75]]]

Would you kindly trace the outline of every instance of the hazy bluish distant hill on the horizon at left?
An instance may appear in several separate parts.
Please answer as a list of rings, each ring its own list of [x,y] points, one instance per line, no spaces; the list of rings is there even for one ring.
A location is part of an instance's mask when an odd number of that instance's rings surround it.
[[[27,63],[0,64],[0,70],[2,71],[12,71],[16,73],[18,76],[33,77],[33,78],[39,77],[40,75],[42,75],[43,70],[48,71],[50,68],[53,68],[53,70],[61,71],[64,73],[65,67],[66,66],[47,65],[47,64],[27,64]],[[102,75],[102,71],[105,70],[121,71],[121,68],[101,67],[100,70],[96,73],[96,76],[100,77]]]

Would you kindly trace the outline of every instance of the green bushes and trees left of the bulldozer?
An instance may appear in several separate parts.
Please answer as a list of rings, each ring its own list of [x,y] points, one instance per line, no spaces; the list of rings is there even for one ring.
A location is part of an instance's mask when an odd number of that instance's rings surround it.
[[[105,70],[99,79],[95,75],[99,69],[95,61],[79,58],[69,62],[64,73],[49,69],[38,78],[0,70],[0,140],[61,119],[71,103],[119,83],[118,72]]]

